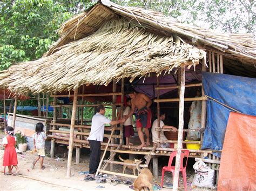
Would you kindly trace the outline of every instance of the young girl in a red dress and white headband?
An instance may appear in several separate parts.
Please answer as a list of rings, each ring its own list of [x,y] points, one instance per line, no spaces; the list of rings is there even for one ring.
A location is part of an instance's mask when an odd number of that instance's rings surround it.
[[[19,173],[19,168],[18,168],[18,159],[17,159],[17,153],[15,150],[15,144],[16,144],[16,137],[14,137],[14,128],[12,127],[6,127],[4,130],[6,137],[3,138],[3,145],[5,147],[4,149],[4,158],[3,158],[3,166],[8,167],[8,173],[5,173],[5,175],[11,175],[12,168],[11,166],[14,166],[16,168],[16,174],[21,174]]]

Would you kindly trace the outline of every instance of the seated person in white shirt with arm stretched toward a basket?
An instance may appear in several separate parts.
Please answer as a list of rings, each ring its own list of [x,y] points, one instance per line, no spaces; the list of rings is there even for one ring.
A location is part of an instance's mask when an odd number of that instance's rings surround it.
[[[164,125],[164,122],[163,120],[165,120],[165,113],[164,112],[160,112],[160,128],[161,128],[161,131],[160,131],[160,140],[168,140],[165,135],[164,135],[164,131],[162,130],[162,128],[165,128],[165,129],[172,129],[174,132],[177,132],[177,128],[176,127],[173,127],[173,126],[169,126],[169,125]],[[158,131],[156,131],[156,128],[158,127],[158,122],[157,122],[157,119],[154,120],[153,122],[153,125],[152,125],[152,129],[151,129],[151,132],[152,132],[152,139],[153,139],[153,143],[154,145],[157,144],[157,139],[158,139]],[[164,142],[162,144],[160,144],[160,147],[161,148],[168,148],[169,147],[169,143],[167,142]]]

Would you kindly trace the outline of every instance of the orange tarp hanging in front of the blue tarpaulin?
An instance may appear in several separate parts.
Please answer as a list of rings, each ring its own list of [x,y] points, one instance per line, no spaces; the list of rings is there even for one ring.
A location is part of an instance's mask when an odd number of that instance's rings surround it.
[[[256,190],[256,117],[230,113],[218,190]]]

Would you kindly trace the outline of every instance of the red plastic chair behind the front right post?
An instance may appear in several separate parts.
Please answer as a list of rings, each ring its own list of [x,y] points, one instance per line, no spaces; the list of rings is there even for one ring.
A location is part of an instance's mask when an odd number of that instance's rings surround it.
[[[176,157],[177,151],[173,151],[170,155],[169,158],[169,162],[168,162],[168,166],[167,167],[163,167],[162,170],[162,178],[161,178],[161,187],[163,188],[164,185],[164,173],[166,171],[172,172],[172,179],[174,178],[174,170],[175,170],[175,166],[171,166],[172,165],[172,160],[174,157]],[[181,150],[181,155],[180,155],[180,169],[179,172],[182,173],[182,177],[183,177],[183,182],[184,182],[184,188],[185,190],[187,190],[187,178],[186,178],[186,167],[187,167],[187,159],[188,159],[188,155],[190,154],[190,151],[187,149],[182,149]],[[186,165],[183,166],[183,159],[186,158]]]

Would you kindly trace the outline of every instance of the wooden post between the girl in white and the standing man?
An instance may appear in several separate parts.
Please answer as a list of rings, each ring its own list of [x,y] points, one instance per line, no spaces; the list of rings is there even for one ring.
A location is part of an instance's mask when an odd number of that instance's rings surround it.
[[[70,178],[71,176],[71,162],[72,162],[72,153],[73,153],[73,138],[74,138],[74,128],[76,121],[76,107],[77,107],[77,94],[78,88],[74,91],[74,99],[73,99],[73,109],[72,109],[72,117],[70,124],[70,134],[69,134],[69,155],[68,155],[68,166],[66,169],[66,176]]]

